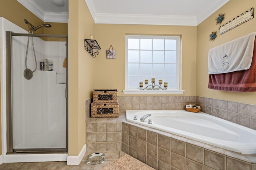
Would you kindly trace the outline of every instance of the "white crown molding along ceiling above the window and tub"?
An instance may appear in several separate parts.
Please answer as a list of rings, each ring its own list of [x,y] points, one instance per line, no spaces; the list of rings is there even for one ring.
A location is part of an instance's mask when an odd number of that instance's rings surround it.
[[[216,2],[217,1],[217,2]],[[97,14],[93,0],[85,0],[95,23],[147,24],[147,25],[187,25],[196,26],[216,12],[229,0],[216,0],[204,8],[197,16]]]

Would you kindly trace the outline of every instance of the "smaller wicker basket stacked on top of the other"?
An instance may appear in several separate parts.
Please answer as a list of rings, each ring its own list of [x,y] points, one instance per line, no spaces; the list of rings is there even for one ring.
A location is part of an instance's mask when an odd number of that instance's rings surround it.
[[[95,89],[93,90],[94,103],[117,103],[116,89]]]

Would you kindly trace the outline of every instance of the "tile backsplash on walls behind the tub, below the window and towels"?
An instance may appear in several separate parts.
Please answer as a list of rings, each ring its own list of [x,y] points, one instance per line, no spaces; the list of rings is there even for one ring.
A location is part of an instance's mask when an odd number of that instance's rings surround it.
[[[256,130],[256,105],[198,96],[118,96],[120,111],[180,110],[186,104],[201,106],[201,111]]]

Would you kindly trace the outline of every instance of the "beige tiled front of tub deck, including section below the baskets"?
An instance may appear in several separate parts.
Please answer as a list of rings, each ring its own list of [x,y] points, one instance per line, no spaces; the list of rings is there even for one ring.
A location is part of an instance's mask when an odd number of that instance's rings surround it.
[[[131,123],[124,113],[112,119],[89,118],[86,132],[87,150],[122,150],[156,170],[256,170],[256,154],[239,154]]]

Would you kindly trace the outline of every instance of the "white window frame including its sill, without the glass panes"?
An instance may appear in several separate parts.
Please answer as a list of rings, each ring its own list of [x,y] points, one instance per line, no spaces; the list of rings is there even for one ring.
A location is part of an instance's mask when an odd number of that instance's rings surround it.
[[[140,90],[139,82],[138,88],[128,88],[128,39],[129,38],[137,38],[137,39],[176,39],[177,45],[177,53],[176,53],[176,88],[171,89],[167,88],[167,90]],[[180,36],[157,36],[157,35],[126,35],[125,36],[125,90],[123,90],[124,94],[183,94],[185,90],[181,90],[181,45],[180,45]],[[151,84],[151,80],[148,80]],[[143,82],[144,83],[144,82]],[[157,84],[157,83],[156,83]]]

